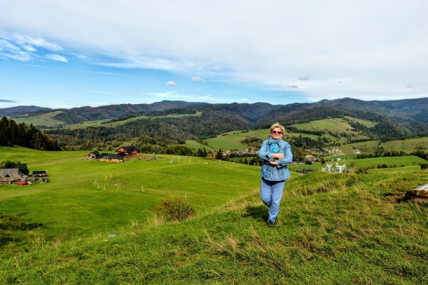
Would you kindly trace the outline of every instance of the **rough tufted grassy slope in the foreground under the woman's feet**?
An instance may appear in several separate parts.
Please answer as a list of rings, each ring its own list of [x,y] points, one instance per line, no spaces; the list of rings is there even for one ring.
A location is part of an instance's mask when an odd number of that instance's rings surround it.
[[[233,177],[233,176],[232,176]],[[287,182],[276,227],[257,190],[180,223],[129,223],[0,263],[3,284],[427,284],[428,172]],[[233,182],[229,180],[229,182]]]

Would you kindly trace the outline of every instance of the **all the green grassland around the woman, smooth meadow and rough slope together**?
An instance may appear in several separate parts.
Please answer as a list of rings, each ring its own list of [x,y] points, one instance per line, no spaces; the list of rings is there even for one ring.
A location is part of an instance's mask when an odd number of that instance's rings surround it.
[[[195,157],[171,164],[166,155],[111,164],[84,160],[86,152],[0,153],[49,170],[51,179],[0,185],[0,214],[44,224],[49,234],[41,240],[29,230],[25,247],[11,247],[14,233],[2,224],[0,249],[10,258],[2,253],[1,284],[428,283],[428,203],[410,195],[428,181],[414,165],[419,157],[340,160],[406,165],[385,169],[392,173],[298,175],[297,167],[313,165],[293,165],[269,228],[259,167]],[[196,216],[153,217],[151,207],[170,196],[186,199]]]

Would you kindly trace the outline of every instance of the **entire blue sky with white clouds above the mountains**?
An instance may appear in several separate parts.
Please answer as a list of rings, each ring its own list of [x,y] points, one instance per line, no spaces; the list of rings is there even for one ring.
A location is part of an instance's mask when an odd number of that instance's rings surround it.
[[[0,108],[428,97],[426,0],[0,7]]]

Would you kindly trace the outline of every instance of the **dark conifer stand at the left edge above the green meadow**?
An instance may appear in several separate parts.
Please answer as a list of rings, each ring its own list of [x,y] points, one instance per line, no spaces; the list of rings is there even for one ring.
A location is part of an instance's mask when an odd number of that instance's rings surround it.
[[[0,145],[19,145],[34,150],[61,150],[55,140],[41,133],[34,125],[17,124],[6,117],[0,120]]]

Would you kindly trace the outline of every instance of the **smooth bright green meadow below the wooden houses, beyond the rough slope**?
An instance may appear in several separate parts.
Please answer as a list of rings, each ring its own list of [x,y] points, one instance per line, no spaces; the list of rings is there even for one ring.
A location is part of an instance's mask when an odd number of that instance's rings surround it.
[[[88,152],[42,152],[0,147],[0,160],[19,160],[30,171],[48,170],[49,183],[0,185],[0,213],[44,224],[53,237],[114,231],[146,219],[166,197],[186,199],[197,214],[253,191],[258,167],[170,155],[159,160],[110,163],[86,160]],[[235,178],[235,179],[233,179]]]

